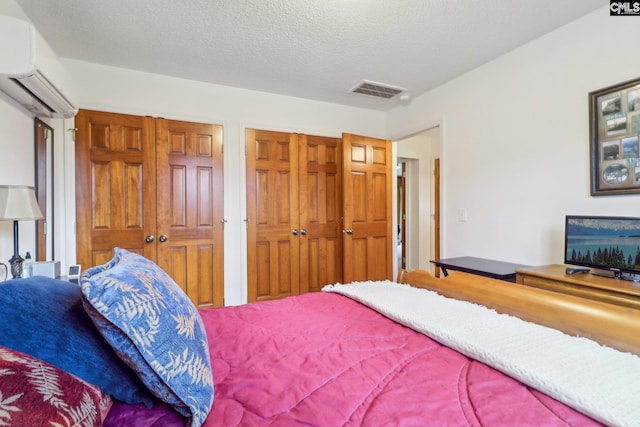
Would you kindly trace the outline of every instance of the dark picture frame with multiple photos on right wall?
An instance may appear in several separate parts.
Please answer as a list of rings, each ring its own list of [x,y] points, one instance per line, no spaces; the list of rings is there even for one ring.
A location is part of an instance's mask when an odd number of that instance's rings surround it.
[[[589,93],[591,195],[640,194],[640,78]]]

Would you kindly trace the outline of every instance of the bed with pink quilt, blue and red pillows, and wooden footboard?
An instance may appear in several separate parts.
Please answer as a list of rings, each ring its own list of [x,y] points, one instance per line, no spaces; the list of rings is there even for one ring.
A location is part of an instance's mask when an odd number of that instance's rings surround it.
[[[198,311],[155,264],[115,253],[81,286],[0,284],[0,425],[640,420],[637,310],[402,271]]]

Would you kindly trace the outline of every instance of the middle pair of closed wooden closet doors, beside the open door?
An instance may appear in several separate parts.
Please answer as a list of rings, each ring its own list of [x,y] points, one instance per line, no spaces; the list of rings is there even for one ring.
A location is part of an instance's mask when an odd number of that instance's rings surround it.
[[[249,129],[248,300],[342,281],[339,138]]]

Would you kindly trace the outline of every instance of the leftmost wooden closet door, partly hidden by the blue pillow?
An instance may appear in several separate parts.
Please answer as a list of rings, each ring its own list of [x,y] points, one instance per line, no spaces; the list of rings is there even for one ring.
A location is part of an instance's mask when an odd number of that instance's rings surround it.
[[[75,123],[77,262],[104,264],[116,246],[155,261],[153,119],[81,110]]]

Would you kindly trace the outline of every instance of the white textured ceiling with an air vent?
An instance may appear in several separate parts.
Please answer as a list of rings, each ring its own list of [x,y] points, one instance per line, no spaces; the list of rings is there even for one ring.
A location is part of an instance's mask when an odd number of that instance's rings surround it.
[[[16,0],[56,53],[389,110],[362,80],[417,96],[607,0]]]

